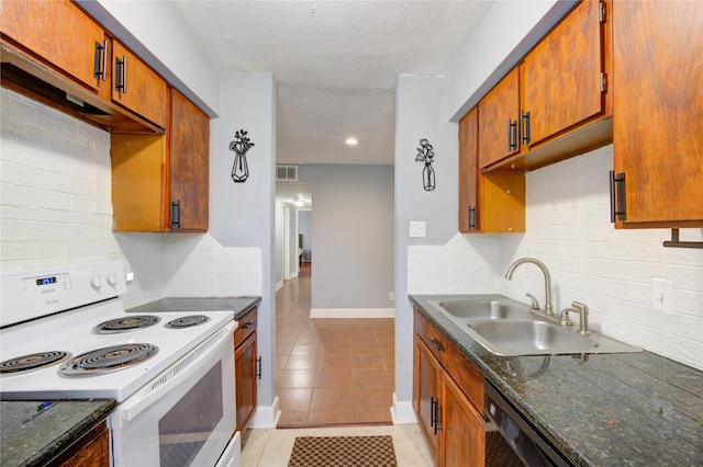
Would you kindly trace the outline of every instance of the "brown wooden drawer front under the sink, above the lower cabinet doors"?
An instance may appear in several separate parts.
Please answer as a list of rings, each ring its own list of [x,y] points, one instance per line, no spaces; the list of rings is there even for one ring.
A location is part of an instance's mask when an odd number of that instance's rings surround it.
[[[483,413],[483,375],[425,316],[415,308],[415,333],[427,344],[477,410]]]

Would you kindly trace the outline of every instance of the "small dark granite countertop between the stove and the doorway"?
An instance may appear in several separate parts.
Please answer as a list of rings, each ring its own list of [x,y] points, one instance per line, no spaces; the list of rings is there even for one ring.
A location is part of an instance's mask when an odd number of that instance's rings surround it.
[[[159,311],[234,311],[238,321],[261,297],[166,297],[130,308],[127,312],[153,314]]]

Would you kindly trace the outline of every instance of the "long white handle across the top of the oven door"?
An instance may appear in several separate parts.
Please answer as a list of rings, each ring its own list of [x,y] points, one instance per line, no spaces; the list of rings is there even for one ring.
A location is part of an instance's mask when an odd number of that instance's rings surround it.
[[[168,369],[164,371],[149,386],[142,388],[134,396],[122,402],[120,406],[120,425],[124,426],[126,423],[136,418],[144,409],[154,403],[163,395],[168,394],[175,386],[178,386],[181,380],[188,378],[191,372],[198,367],[198,363],[210,357],[212,354],[222,352],[222,346],[227,343],[234,349],[233,332],[235,329],[235,322],[230,321],[224,327],[220,328],[213,335],[208,338],[204,342],[201,342],[196,349],[188,352],[183,357],[178,360]]]

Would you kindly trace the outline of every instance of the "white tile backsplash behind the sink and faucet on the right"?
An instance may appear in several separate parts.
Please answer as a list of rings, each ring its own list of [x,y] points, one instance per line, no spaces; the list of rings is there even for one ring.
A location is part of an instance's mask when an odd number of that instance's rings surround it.
[[[663,248],[667,229],[615,229],[612,166],[613,147],[606,146],[528,172],[526,232],[458,235],[445,246],[410,247],[409,293],[498,292],[528,303],[529,292],[544,306],[536,266],[522,265],[512,281],[503,278],[512,261],[534,257],[549,267],[556,309],[585,303],[594,329],[703,369],[703,250]],[[703,229],[682,229],[681,238],[703,241]],[[459,246],[475,254],[457,260]],[[486,265],[476,274],[458,273],[479,258]],[[669,314],[651,310],[652,277],[674,281]]]

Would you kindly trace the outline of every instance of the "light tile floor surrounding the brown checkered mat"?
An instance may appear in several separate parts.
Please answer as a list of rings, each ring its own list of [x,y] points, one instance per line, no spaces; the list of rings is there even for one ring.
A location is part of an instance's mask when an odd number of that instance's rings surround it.
[[[398,467],[433,467],[420,425],[325,429],[247,430],[242,440],[242,467],[286,467],[297,436],[390,435]]]

